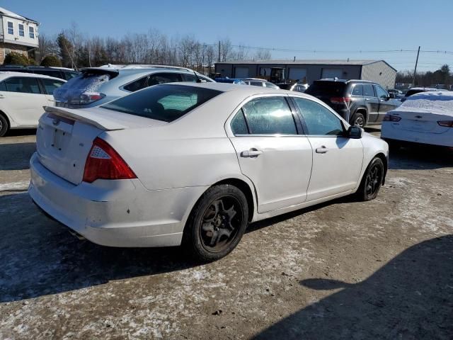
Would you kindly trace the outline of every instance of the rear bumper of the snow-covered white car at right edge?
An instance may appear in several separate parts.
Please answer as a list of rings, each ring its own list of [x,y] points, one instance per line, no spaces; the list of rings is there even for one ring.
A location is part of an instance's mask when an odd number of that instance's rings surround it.
[[[402,130],[393,122],[382,122],[381,137],[386,140],[453,147],[453,128],[450,130],[444,133],[417,132]]]

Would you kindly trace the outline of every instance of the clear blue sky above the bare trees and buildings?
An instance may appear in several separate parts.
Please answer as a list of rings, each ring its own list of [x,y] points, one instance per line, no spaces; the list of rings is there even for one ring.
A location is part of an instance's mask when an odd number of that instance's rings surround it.
[[[71,21],[101,37],[156,28],[207,43],[228,37],[234,45],[274,48],[274,59],[384,59],[401,70],[413,69],[416,52],[365,51],[421,45],[423,51],[453,52],[452,0],[0,0],[0,6],[39,21],[46,35]],[[420,70],[441,64],[453,66],[453,53],[420,54]]]

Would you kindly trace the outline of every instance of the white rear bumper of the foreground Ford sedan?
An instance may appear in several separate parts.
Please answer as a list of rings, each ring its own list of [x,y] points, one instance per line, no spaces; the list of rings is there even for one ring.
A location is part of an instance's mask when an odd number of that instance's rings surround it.
[[[178,246],[205,187],[149,191],[139,180],[75,186],[30,160],[28,193],[48,215],[104,246]]]

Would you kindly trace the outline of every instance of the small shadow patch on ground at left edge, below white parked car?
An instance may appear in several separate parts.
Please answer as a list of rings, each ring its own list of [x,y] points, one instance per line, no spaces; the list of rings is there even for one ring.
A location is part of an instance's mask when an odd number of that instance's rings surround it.
[[[35,143],[0,144],[0,171],[29,169],[35,150]]]

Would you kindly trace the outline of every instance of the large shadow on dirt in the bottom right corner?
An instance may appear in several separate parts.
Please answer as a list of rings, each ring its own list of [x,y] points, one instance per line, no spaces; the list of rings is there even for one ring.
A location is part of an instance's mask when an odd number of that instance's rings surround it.
[[[453,235],[411,246],[360,283],[300,284],[332,295],[255,339],[452,339]]]

